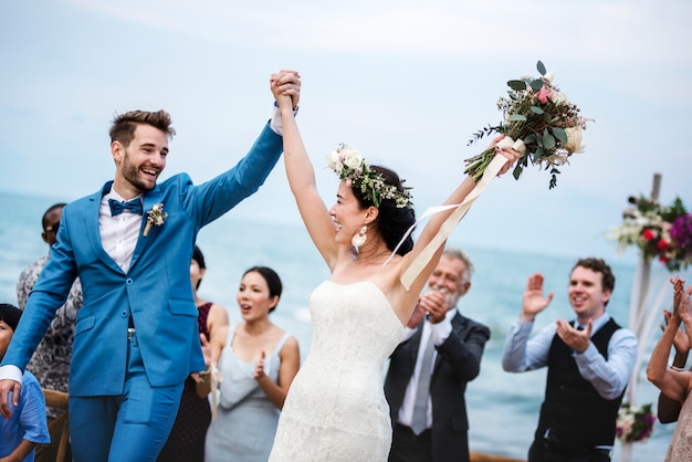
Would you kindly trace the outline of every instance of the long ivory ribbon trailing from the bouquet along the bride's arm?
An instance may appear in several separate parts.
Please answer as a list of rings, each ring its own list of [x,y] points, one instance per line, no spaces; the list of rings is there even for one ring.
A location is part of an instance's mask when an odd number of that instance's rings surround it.
[[[506,145],[507,147],[514,144],[514,140],[512,140],[512,138],[505,137],[499,143],[499,145],[506,144],[507,141],[505,140],[510,141],[510,144]],[[422,252],[420,252],[418,256],[416,256],[416,259],[411,262],[409,267],[407,267],[403,274],[401,275],[401,284],[403,284],[403,287],[406,287],[407,291],[410,291],[411,284],[413,283],[413,281],[416,281],[416,277],[418,277],[418,275],[423,271],[426,265],[428,265],[430,260],[432,260],[432,255],[434,254],[434,252],[437,252],[437,250],[440,249],[440,245],[442,245],[444,241],[447,241],[447,238],[449,238],[450,233],[454,230],[457,224],[466,214],[466,212],[469,211],[473,202],[479,198],[479,196],[481,196],[481,192],[483,192],[485,188],[487,187],[487,185],[490,185],[490,182],[493,180],[493,178],[497,176],[497,174],[500,172],[500,170],[502,169],[502,167],[505,165],[506,161],[507,161],[506,157],[504,157],[501,154],[496,154],[493,160],[491,160],[491,162],[485,168],[485,171],[483,172],[483,177],[479,180],[479,182],[475,183],[475,187],[471,190],[471,192],[469,192],[469,196],[466,196],[463,202],[451,204],[451,206],[431,207],[428,210],[426,210],[422,217],[419,220],[417,220],[416,223],[413,223],[411,228],[409,228],[409,230],[403,235],[403,239],[401,240],[401,242],[399,242],[399,244],[392,252],[391,256],[387,259],[387,262],[391,260],[391,258],[397,252],[397,250],[399,249],[403,240],[411,233],[411,231],[413,230],[413,228],[416,228],[419,221],[423,220],[424,218],[431,214],[439,213],[444,210],[449,210],[453,208],[457,209],[452,212],[452,214],[448,217],[447,220],[444,220],[444,222],[440,227],[440,231],[438,231],[438,233],[432,238],[432,240],[428,243],[428,245],[426,245]],[[387,264],[387,262],[385,262],[385,264]]]

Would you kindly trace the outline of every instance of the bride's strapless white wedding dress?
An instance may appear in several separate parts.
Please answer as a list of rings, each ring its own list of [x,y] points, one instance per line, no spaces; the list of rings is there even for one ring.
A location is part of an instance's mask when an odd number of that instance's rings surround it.
[[[270,462],[384,462],[391,444],[382,368],[403,334],[370,282],[326,281],[310,300],[313,338],[286,397]]]

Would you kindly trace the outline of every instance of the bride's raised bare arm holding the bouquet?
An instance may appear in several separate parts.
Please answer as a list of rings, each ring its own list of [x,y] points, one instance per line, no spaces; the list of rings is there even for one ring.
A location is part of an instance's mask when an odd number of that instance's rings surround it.
[[[495,139],[493,139],[489,147],[495,146],[502,138],[503,136],[496,137]],[[500,172],[497,175],[506,172],[512,164],[514,164],[514,161],[521,156],[520,153],[507,147],[496,147],[496,151],[497,154],[507,158],[507,162],[500,169]],[[462,203],[475,186],[476,183],[475,181],[473,181],[473,178],[466,176],[463,181],[452,191],[450,197],[444,201],[444,206]],[[401,259],[399,263],[400,275],[402,275],[409,269],[416,258],[421,254],[421,252],[440,232],[442,223],[444,223],[444,221],[454,212],[454,210],[455,208],[450,208],[448,210],[439,211],[429,219],[428,223],[420,232],[420,235],[416,241],[413,249],[409,253],[407,253],[403,259]],[[432,258],[426,262],[426,265],[421,269],[421,271],[416,274],[416,277],[413,279],[410,287],[408,287],[408,292],[410,292],[411,294],[420,293],[420,291],[426,286],[428,277],[430,276],[430,274],[432,274],[432,271],[437,266],[443,250],[444,242],[442,242],[439,249],[436,250]]]

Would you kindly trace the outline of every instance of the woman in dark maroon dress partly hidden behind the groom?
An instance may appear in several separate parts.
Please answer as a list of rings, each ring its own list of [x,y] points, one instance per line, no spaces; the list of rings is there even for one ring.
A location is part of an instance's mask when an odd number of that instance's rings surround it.
[[[198,290],[202,277],[207,274],[207,265],[202,251],[195,245],[190,262],[190,282],[197,305],[197,323],[199,334],[205,343],[211,339],[222,326],[228,326],[228,313],[219,304],[207,302],[199,296]],[[209,407],[209,387],[199,376],[190,376],[185,380],[180,397],[180,407],[168,441],[158,456],[159,462],[201,462],[205,460],[205,438],[211,423]]]

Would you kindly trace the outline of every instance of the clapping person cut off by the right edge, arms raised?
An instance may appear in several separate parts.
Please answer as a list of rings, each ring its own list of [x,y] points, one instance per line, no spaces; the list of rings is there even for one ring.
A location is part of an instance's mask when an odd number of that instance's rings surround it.
[[[684,281],[672,277],[674,296],[673,314],[668,319],[668,326],[663,335],[656,344],[649,366],[647,378],[656,385],[668,398],[682,402],[682,409],[678,417],[678,424],[673,438],[668,447],[665,462],[692,461],[692,371],[677,370],[668,367],[670,349],[680,332],[680,324],[684,324],[688,345],[692,344],[692,285],[684,288]]]

